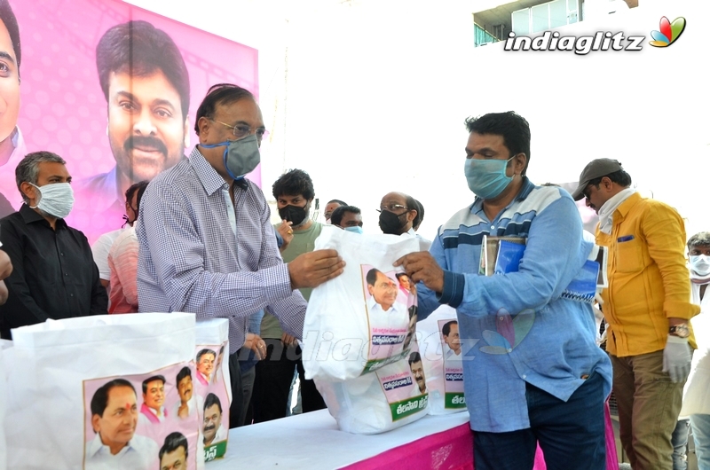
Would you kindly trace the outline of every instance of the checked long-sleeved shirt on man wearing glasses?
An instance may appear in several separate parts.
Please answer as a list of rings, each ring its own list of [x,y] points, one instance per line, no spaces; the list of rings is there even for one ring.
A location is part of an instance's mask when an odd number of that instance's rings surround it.
[[[138,224],[138,308],[229,318],[229,349],[244,344],[248,316],[268,309],[301,338],[306,302],[291,290],[264,193],[229,185],[195,146],[148,184]]]

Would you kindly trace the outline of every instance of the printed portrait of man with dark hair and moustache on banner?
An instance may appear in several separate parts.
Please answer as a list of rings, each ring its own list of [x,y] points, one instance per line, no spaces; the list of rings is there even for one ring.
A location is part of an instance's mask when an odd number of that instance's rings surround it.
[[[184,158],[190,77],[170,35],[140,20],[101,36],[96,68],[115,166],[85,181],[84,188],[105,204],[117,198],[120,206],[131,184],[150,181]]]

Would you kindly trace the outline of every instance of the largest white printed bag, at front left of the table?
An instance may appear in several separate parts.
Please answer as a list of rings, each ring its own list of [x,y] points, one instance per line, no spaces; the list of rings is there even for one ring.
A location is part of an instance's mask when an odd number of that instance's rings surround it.
[[[194,374],[194,315],[76,317],[12,330],[8,467],[204,466],[201,422],[180,419],[177,375]]]

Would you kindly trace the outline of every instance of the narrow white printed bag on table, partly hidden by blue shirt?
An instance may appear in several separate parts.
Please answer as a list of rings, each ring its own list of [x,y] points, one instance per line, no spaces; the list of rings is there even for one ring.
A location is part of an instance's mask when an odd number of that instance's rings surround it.
[[[463,396],[464,351],[456,310],[442,305],[417,323],[416,329],[430,393],[430,414],[466,410]]]

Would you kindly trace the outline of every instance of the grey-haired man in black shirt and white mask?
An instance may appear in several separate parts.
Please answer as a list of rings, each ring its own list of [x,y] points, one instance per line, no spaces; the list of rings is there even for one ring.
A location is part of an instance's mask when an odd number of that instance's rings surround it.
[[[64,222],[74,205],[72,177],[56,153],[35,152],[15,169],[24,204],[0,220],[2,249],[12,261],[7,302],[0,306],[3,339],[10,329],[106,314],[106,289],[81,231]]]

